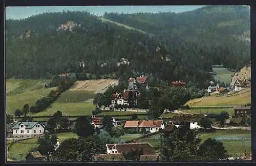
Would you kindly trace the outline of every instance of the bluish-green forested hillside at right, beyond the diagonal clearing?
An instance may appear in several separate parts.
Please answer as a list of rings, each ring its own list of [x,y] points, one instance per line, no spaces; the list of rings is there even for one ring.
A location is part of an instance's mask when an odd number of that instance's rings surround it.
[[[245,6],[206,6],[178,14],[105,13],[103,17],[155,34],[170,56],[192,65],[223,64],[239,70],[250,61],[250,10]]]

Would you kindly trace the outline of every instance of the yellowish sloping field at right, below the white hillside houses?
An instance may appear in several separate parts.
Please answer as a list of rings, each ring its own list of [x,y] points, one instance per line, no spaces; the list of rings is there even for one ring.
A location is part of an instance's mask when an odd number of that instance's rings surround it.
[[[221,105],[238,105],[238,104],[245,104],[251,103],[251,89],[245,89],[241,92],[238,92],[234,95],[222,96],[207,96],[202,98],[197,98],[193,100],[189,100],[186,104],[188,106],[221,106]]]

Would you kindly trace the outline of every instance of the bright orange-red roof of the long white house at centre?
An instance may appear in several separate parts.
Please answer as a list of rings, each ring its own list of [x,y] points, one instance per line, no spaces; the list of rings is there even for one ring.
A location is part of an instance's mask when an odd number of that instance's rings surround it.
[[[124,128],[130,127],[161,127],[162,120],[126,121]]]

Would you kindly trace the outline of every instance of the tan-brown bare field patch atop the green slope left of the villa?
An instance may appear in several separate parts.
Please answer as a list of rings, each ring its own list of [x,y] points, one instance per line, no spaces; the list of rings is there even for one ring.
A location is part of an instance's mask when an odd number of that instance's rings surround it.
[[[97,79],[97,80],[78,80],[70,91],[95,91],[95,93],[104,93],[110,86],[118,85],[117,79]]]

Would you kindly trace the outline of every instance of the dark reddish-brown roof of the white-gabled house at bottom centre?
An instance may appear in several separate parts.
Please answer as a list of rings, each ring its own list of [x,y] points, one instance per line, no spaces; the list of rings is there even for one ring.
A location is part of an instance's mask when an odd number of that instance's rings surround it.
[[[148,143],[115,144],[113,148],[115,148],[119,153],[143,149],[143,154],[156,154],[153,147]]]

